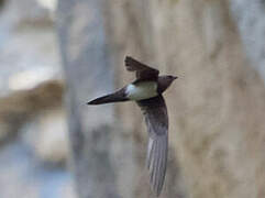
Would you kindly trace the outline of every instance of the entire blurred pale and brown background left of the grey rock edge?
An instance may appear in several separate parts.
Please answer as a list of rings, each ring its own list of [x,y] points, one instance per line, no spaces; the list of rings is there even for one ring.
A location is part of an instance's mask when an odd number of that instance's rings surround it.
[[[54,24],[44,1],[1,1],[1,198],[75,197]]]

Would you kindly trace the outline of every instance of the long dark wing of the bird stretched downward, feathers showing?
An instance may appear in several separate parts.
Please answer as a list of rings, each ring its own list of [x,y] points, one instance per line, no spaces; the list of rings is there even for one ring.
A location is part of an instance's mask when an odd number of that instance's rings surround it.
[[[162,95],[137,101],[148,130],[147,167],[152,190],[159,196],[163,188],[167,164],[168,117]]]

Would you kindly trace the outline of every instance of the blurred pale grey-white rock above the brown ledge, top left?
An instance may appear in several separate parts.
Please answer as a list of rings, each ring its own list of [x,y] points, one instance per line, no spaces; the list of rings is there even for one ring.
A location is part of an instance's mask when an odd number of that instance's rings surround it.
[[[51,12],[35,0],[5,3],[0,41],[0,96],[62,78]]]

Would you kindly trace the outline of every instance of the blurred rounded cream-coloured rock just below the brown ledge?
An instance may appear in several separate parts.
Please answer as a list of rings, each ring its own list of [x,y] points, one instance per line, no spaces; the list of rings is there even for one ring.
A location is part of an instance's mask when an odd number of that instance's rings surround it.
[[[44,164],[65,165],[69,157],[65,110],[62,107],[44,110],[34,122],[25,135],[34,154]]]

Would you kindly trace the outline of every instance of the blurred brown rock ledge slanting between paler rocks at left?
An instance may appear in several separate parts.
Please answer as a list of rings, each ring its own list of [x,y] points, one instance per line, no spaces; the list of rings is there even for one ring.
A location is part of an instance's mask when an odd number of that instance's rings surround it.
[[[30,90],[14,91],[0,99],[0,142],[16,135],[20,128],[44,111],[62,109],[64,85],[49,80]]]

